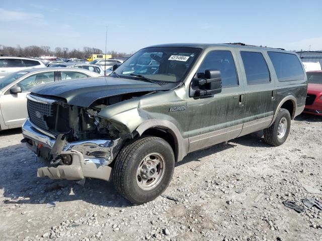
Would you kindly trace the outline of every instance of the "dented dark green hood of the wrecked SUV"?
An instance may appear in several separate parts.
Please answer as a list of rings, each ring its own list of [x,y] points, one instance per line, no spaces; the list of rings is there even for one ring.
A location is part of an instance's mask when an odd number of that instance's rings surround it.
[[[145,81],[97,77],[52,82],[31,89],[32,93],[57,96],[67,100],[70,105],[89,107],[95,100],[126,93],[166,90],[165,85]]]

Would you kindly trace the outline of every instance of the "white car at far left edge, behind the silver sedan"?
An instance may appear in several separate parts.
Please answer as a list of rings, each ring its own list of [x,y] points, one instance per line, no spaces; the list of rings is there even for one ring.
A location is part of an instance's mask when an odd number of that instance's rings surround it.
[[[39,59],[23,57],[0,57],[0,78],[23,69],[44,68],[43,62]]]

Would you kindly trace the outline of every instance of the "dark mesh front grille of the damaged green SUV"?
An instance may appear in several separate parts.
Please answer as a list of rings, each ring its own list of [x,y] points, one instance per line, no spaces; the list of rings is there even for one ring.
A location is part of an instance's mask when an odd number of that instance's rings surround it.
[[[31,122],[38,127],[49,130],[48,122],[54,118],[57,105],[52,103],[41,103],[28,99],[27,101],[28,114]],[[51,118],[50,118],[51,117]]]

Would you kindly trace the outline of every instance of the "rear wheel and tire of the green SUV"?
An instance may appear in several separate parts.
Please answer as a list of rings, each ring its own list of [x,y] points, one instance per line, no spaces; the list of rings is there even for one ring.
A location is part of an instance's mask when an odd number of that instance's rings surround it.
[[[291,127],[291,115],[287,109],[281,108],[278,111],[277,117],[267,129],[264,129],[264,140],[267,144],[272,146],[282,145],[290,132]]]

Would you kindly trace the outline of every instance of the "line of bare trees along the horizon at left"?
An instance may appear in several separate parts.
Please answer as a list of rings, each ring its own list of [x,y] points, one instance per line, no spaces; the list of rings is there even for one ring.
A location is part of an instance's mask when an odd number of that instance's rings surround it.
[[[101,49],[93,47],[84,47],[83,50],[80,49],[71,49],[69,50],[66,47],[56,47],[54,50],[51,50],[49,46],[36,46],[31,45],[27,47],[10,47],[0,45],[0,55],[9,55],[9,56],[25,56],[25,57],[41,57],[41,56],[55,56],[60,58],[86,58],[90,54],[104,54]],[[111,54],[113,58],[123,57],[127,55],[126,53],[116,52],[116,51],[107,51],[107,54]]]

